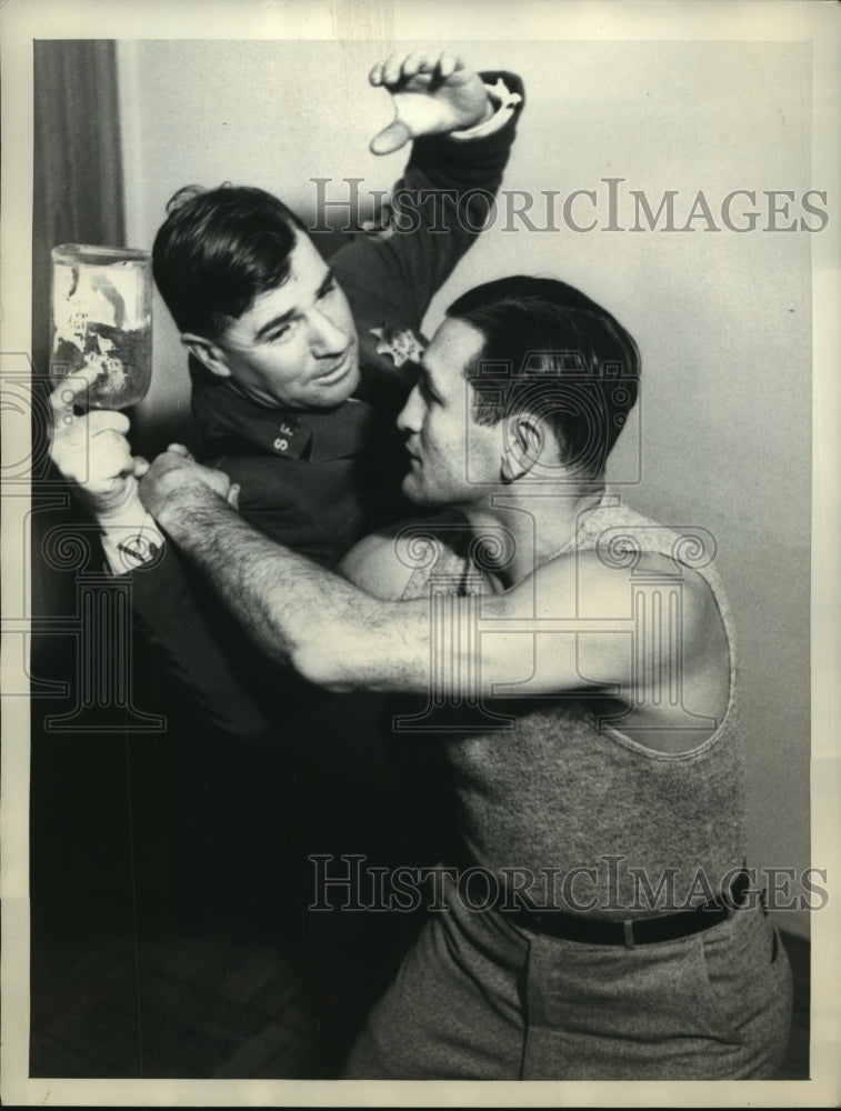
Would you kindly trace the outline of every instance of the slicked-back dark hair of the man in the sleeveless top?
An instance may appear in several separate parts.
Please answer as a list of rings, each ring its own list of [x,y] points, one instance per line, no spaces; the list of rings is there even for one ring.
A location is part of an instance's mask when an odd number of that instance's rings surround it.
[[[564,467],[601,478],[639,390],[639,351],[619,321],[565,282],[520,274],[470,290],[447,316],[484,336],[465,368],[473,420],[493,427],[532,412],[552,428]]]

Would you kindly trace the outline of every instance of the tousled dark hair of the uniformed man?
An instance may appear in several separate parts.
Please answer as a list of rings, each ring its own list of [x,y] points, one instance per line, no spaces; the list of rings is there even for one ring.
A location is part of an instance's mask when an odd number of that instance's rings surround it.
[[[156,283],[179,330],[210,339],[289,278],[304,231],[277,197],[246,186],[186,186],[167,212],[152,248]]]

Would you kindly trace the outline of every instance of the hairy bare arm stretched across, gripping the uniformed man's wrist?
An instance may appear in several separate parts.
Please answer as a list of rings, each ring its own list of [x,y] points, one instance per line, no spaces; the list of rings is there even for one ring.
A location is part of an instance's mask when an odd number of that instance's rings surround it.
[[[633,661],[629,573],[592,553],[552,560],[503,594],[442,595],[434,608],[429,598],[381,600],[261,537],[204,486],[202,470],[159,457],[141,497],[264,651],[312,682],[414,693],[437,684],[457,697],[517,684],[628,697],[652,682],[654,661]],[[704,588],[687,583],[681,647],[691,665]]]

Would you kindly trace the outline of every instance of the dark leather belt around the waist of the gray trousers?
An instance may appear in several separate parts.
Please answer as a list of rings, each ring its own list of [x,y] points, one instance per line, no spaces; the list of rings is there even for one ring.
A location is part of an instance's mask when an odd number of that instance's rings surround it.
[[[471,877],[472,879],[473,877]],[[688,938],[711,925],[723,921],[732,910],[744,901],[750,888],[750,877],[739,872],[730,884],[727,900],[710,901],[692,910],[678,911],[675,914],[659,914],[652,918],[625,919],[611,921],[605,918],[593,918],[589,914],[568,914],[562,910],[527,909],[522,905],[515,909],[502,907],[503,899],[497,903],[505,918],[533,933],[543,933],[551,938],[562,938],[565,941],[583,941],[591,945],[652,945],[660,941],[674,941]]]

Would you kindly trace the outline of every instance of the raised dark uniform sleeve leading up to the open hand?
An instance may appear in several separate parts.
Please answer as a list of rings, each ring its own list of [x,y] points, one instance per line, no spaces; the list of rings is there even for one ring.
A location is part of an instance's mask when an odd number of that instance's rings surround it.
[[[363,339],[383,320],[419,331],[433,296],[481,232],[523,104],[519,78],[483,73],[482,79],[489,90],[495,81],[517,101],[504,127],[473,139],[416,140],[392,190],[388,232],[359,236],[331,259]]]

